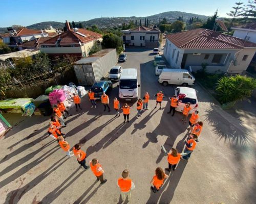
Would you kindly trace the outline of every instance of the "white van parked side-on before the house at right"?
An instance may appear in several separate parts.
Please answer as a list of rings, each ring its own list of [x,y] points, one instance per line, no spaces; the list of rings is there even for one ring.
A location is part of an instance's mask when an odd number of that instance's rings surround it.
[[[195,84],[195,77],[186,69],[163,69],[158,82],[163,86],[168,84],[191,86]]]

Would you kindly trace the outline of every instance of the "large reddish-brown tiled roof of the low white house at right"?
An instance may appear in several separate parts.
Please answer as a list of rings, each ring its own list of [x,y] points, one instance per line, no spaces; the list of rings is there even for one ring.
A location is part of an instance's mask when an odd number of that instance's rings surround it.
[[[166,35],[166,38],[183,49],[241,49],[256,44],[207,29],[195,29]]]

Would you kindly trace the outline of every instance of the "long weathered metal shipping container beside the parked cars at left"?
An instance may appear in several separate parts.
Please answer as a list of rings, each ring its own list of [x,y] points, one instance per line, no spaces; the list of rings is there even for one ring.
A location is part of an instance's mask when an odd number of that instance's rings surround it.
[[[99,52],[74,63],[79,85],[93,85],[105,77],[111,67],[117,64],[116,49],[102,49]]]

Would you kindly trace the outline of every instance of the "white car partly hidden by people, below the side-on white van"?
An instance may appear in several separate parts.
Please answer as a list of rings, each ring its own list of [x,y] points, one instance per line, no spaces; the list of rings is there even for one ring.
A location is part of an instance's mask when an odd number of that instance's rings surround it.
[[[189,114],[197,111],[198,109],[198,100],[197,100],[197,91],[193,88],[181,87],[178,86],[175,89],[175,95],[179,100],[179,105],[176,107],[176,111],[182,112],[186,103],[190,103],[191,110]]]

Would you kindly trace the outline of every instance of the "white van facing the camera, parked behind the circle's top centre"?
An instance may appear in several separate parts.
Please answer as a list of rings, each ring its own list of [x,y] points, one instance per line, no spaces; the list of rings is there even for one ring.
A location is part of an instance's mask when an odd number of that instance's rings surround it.
[[[123,69],[119,81],[119,98],[124,100],[137,100],[138,84],[137,69]]]

